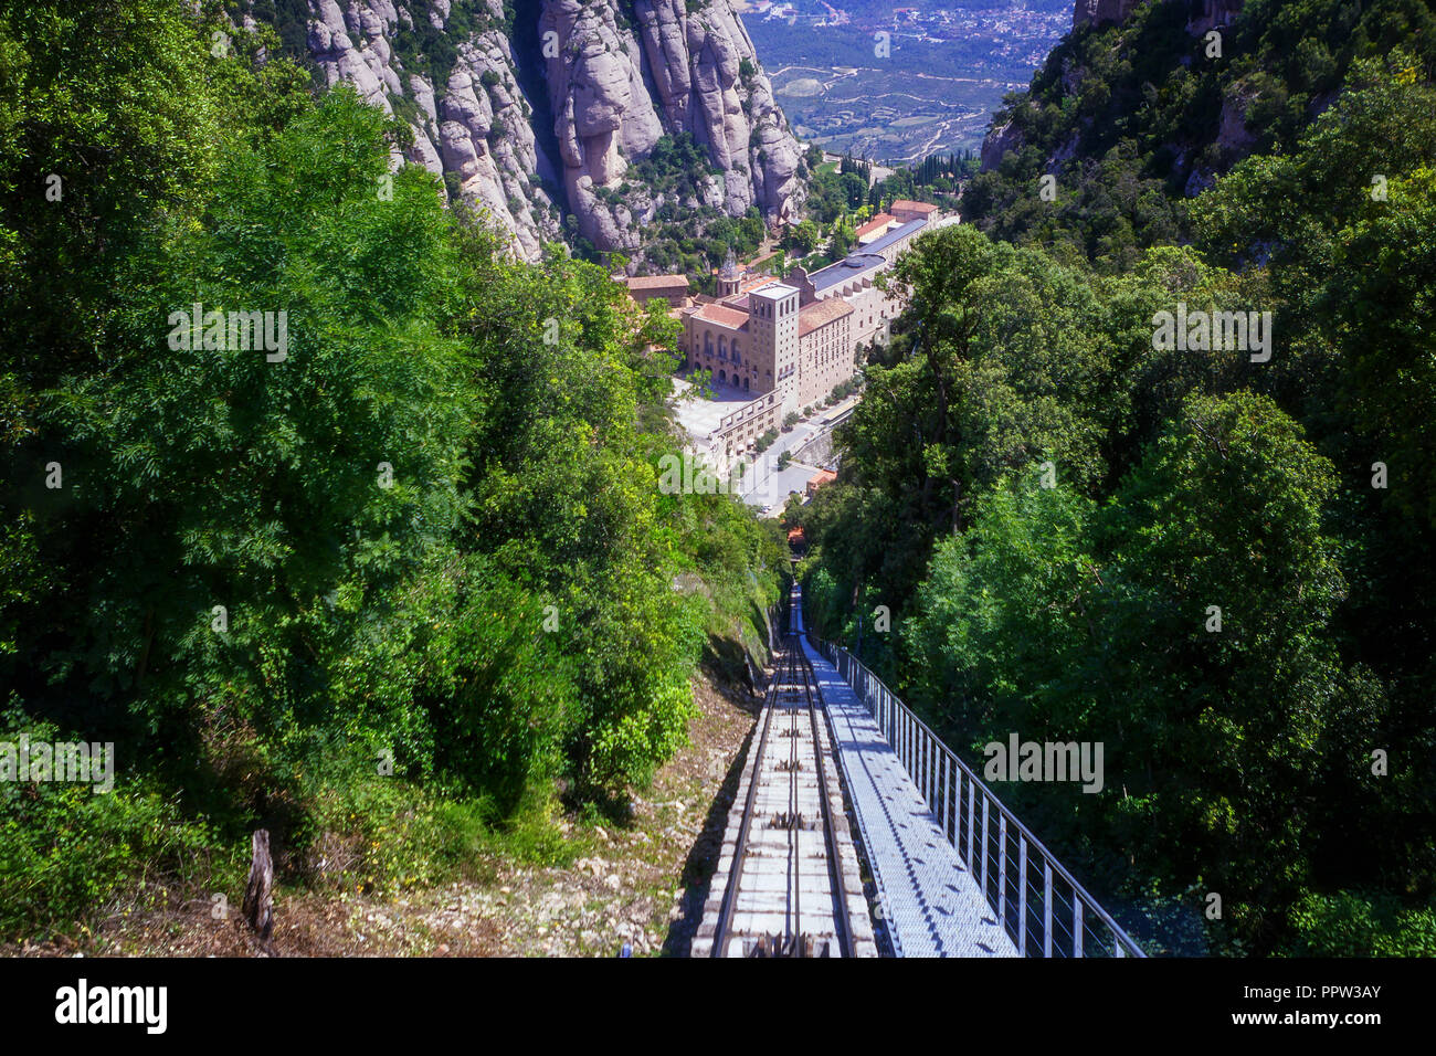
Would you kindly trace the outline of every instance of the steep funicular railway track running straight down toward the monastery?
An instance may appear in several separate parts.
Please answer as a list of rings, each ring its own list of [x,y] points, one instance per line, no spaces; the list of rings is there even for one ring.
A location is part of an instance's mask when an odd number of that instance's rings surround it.
[[[797,590],[791,612],[694,955],[876,955]]]

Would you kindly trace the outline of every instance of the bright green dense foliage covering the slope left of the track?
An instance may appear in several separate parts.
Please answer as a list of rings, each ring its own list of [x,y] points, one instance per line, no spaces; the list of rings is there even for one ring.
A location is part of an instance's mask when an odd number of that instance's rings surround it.
[[[277,52],[0,6],[0,740],[118,751],[108,795],[0,786],[0,935],[257,825],[289,876],[336,838],[348,884],[432,881],[646,780],[704,652],[763,649],[771,526],[658,488],[672,322],[511,261]],[[177,339],[194,305],[287,341]]]

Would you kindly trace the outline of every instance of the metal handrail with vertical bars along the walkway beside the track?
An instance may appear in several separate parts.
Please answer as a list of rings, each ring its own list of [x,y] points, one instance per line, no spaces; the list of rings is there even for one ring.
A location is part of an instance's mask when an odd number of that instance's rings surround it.
[[[811,638],[814,647],[837,668],[839,675],[867,705],[869,713],[877,720],[883,736],[898,753],[899,760],[908,770],[918,790],[928,802],[933,819],[942,828],[943,838],[952,843],[958,858],[966,863],[971,875],[982,888],[982,897],[997,912],[998,924],[1017,942],[1018,951],[1027,957],[1028,948],[1040,948],[1043,957],[1054,955],[1053,932],[1057,928],[1066,930],[1070,940],[1068,957],[1090,957],[1093,950],[1084,941],[1088,931],[1100,938],[1097,925],[1106,928],[1110,935],[1110,953],[1113,957],[1146,957],[1142,947],[1117,924],[1111,915],[1101,908],[1096,898],[1077,882],[1061,862],[1047,849],[1047,846],[1018,820],[1017,815],[1004,806],[985,782],[964,763],[958,754],[942,743],[942,738],[932,731],[918,715],[903,704],[882,680],[877,678],[860,659],[847,649],[831,642]],[[968,795],[962,795],[964,779],[968,784]],[[954,802],[955,800],[955,802]],[[981,807],[979,807],[981,803]],[[966,818],[964,819],[964,805]],[[992,832],[992,813],[997,813],[997,874],[989,872],[994,855],[989,852],[989,833]],[[981,820],[978,816],[981,815]],[[964,840],[964,823],[966,825],[966,839]],[[1011,830],[1015,830],[1015,836]],[[981,851],[978,849],[981,838]],[[1008,855],[1010,838],[1017,842],[1017,920],[1011,920],[1008,912],[1008,888],[1012,872],[1012,858]],[[1035,862],[1032,851],[1037,852]],[[1032,908],[1028,904],[1028,878],[1031,866],[1037,865],[1043,872],[1040,927],[1030,928],[1028,917]],[[1055,905],[1055,881],[1061,879],[1071,891],[1068,907]],[[994,888],[995,882],[995,891]],[[1038,888],[1031,886],[1032,894]],[[1064,899],[1066,902],[1066,899]],[[1063,920],[1071,921],[1068,927]],[[1063,942],[1067,947],[1067,942]],[[1099,942],[1099,951],[1106,953]]]

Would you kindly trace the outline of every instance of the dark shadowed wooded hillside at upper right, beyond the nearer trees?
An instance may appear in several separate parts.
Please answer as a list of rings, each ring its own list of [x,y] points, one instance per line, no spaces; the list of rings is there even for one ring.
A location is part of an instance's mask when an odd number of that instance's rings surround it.
[[[966,185],[964,216],[1063,260],[1126,269],[1190,237],[1189,200],[1215,177],[1252,152],[1291,152],[1354,63],[1400,47],[1436,76],[1425,0],[1248,0],[1219,55],[1186,29],[1198,7],[1137,4],[1122,24],[1068,34],[997,115],[1010,152]]]

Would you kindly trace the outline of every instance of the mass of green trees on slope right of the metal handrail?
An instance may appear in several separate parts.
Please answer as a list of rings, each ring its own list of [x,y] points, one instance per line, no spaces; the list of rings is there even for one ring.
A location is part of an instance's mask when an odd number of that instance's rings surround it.
[[[998,793],[1153,950],[1436,954],[1436,89],[1400,47],[1344,83],[1192,201],[1198,246],[1134,218],[1094,269],[1017,205],[1017,244],[920,238],[839,481],[788,511],[810,621],[971,763],[1106,746],[1100,793]],[[1269,359],[1163,346],[1179,303],[1269,310]]]

